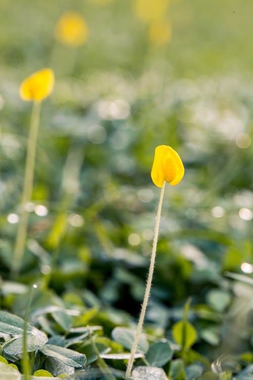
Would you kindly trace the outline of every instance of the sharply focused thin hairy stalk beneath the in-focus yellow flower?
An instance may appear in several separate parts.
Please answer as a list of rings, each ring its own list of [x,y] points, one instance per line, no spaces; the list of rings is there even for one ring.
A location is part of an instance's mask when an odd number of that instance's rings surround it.
[[[153,248],[152,248],[152,253],[151,253],[151,258],[150,258],[150,265],[149,265],[149,271],[148,271],[148,279],[147,279],[147,284],[146,284],[146,289],[145,289],[145,294],[144,294],[144,299],[143,299],[143,304],[141,308],[141,314],[136,330],[136,335],[134,339],[134,343],[132,346],[129,362],[128,362],[128,367],[126,368],[125,372],[125,379],[129,379],[131,376],[132,372],[132,367],[134,364],[134,358],[135,354],[137,351],[138,347],[138,342],[139,338],[142,332],[142,326],[145,318],[145,313],[148,305],[148,298],[150,294],[150,289],[152,285],[152,278],[153,278],[153,273],[154,273],[154,265],[155,265],[155,254],[156,254],[156,246],[157,246],[157,240],[158,240],[158,232],[159,232],[159,224],[160,224],[160,216],[161,216],[161,206],[162,206],[162,200],[163,200],[163,195],[164,195],[164,189],[165,189],[165,181],[163,182],[162,188],[161,188],[161,194],[160,194],[160,199],[158,203],[158,209],[157,209],[157,214],[156,214],[156,222],[155,222],[155,229],[154,229],[154,240],[153,240]]]

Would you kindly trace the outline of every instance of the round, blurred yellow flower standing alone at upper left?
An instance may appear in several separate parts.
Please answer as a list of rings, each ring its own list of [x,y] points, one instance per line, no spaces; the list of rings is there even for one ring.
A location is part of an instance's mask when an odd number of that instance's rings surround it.
[[[55,27],[55,37],[63,44],[79,46],[87,41],[88,26],[78,13],[64,13]]]

